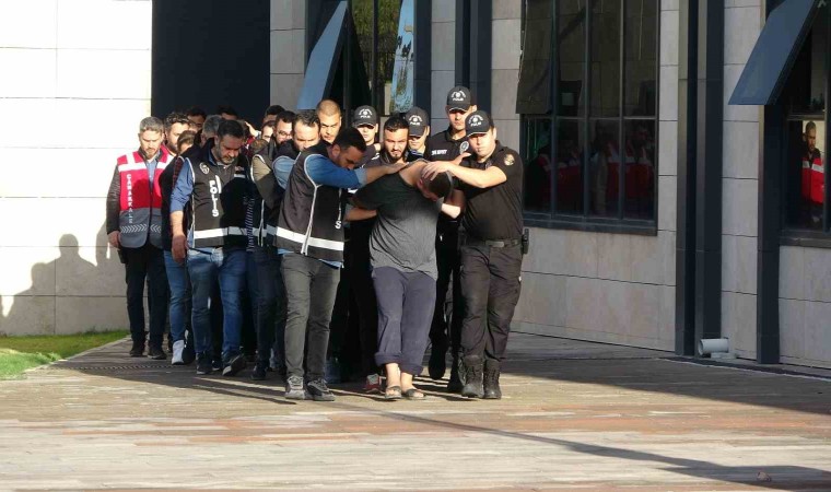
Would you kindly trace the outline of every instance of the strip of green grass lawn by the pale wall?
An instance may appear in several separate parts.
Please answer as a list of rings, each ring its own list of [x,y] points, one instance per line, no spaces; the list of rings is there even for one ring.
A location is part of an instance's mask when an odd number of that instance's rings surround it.
[[[127,337],[128,331],[39,337],[0,337],[0,379],[20,377],[27,368],[48,364]]]

